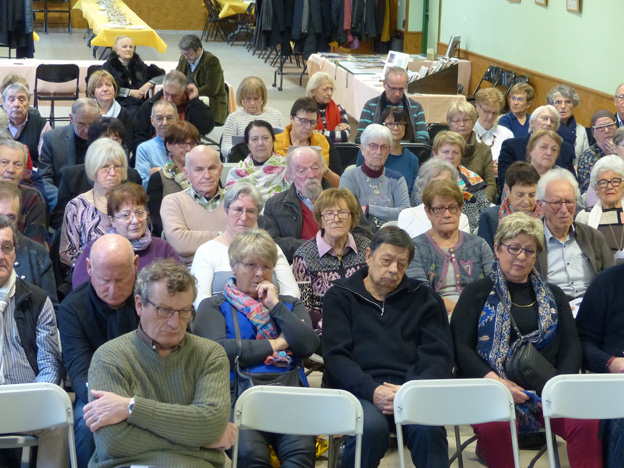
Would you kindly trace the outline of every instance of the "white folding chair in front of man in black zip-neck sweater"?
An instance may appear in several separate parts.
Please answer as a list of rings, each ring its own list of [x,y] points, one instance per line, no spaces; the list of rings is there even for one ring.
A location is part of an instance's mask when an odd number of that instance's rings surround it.
[[[492,379],[412,380],[394,396],[399,466],[405,468],[403,424],[457,426],[509,421],[514,464],[520,467],[516,412],[507,387]],[[458,441],[458,452],[460,451]]]

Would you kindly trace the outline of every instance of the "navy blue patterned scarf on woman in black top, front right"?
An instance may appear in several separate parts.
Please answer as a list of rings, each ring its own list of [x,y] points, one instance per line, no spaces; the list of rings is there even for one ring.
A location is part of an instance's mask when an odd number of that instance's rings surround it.
[[[498,260],[492,265],[490,278],[494,285],[479,318],[476,351],[499,376],[507,378],[505,362],[515,352],[522,340],[518,337],[516,341],[510,343],[512,328],[509,312],[511,310],[511,296]],[[557,334],[559,321],[557,304],[552,292],[535,269],[529,274],[529,281],[535,291],[539,319],[537,330],[524,335],[523,339],[531,341],[539,350],[550,343]],[[526,403],[517,405],[518,424],[523,432],[534,432],[540,425],[533,408],[527,408],[525,405]]]

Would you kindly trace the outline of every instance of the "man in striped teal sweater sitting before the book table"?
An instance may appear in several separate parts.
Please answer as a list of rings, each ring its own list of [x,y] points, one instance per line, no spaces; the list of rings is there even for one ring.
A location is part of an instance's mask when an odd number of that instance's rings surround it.
[[[415,142],[429,144],[425,111],[419,103],[405,95],[407,71],[401,67],[388,67],[383,86],[384,91],[379,97],[370,99],[364,104],[355,142],[360,144],[362,132],[368,125],[372,123],[383,124],[381,114],[386,107],[396,106],[405,110],[409,116],[410,124],[414,130]]]

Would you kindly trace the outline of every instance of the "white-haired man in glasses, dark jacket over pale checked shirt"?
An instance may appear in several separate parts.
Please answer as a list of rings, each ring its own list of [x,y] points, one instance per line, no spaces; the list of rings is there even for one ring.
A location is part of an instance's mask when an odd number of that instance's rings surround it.
[[[614,264],[609,244],[597,229],[574,221],[580,192],[570,172],[546,173],[537,183],[535,198],[544,215],[546,246],[535,268],[570,300],[583,297],[594,277]]]

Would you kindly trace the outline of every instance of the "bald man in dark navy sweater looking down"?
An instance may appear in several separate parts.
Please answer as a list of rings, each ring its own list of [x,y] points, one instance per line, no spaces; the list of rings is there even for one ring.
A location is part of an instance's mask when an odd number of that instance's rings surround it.
[[[76,392],[74,432],[80,468],[87,468],[95,450],[82,409],[89,402],[89,365],[102,344],[138,326],[132,296],[138,264],[139,257],[126,238],[118,234],[100,237],[87,259],[90,280],[74,289],[58,311],[63,362]]]

